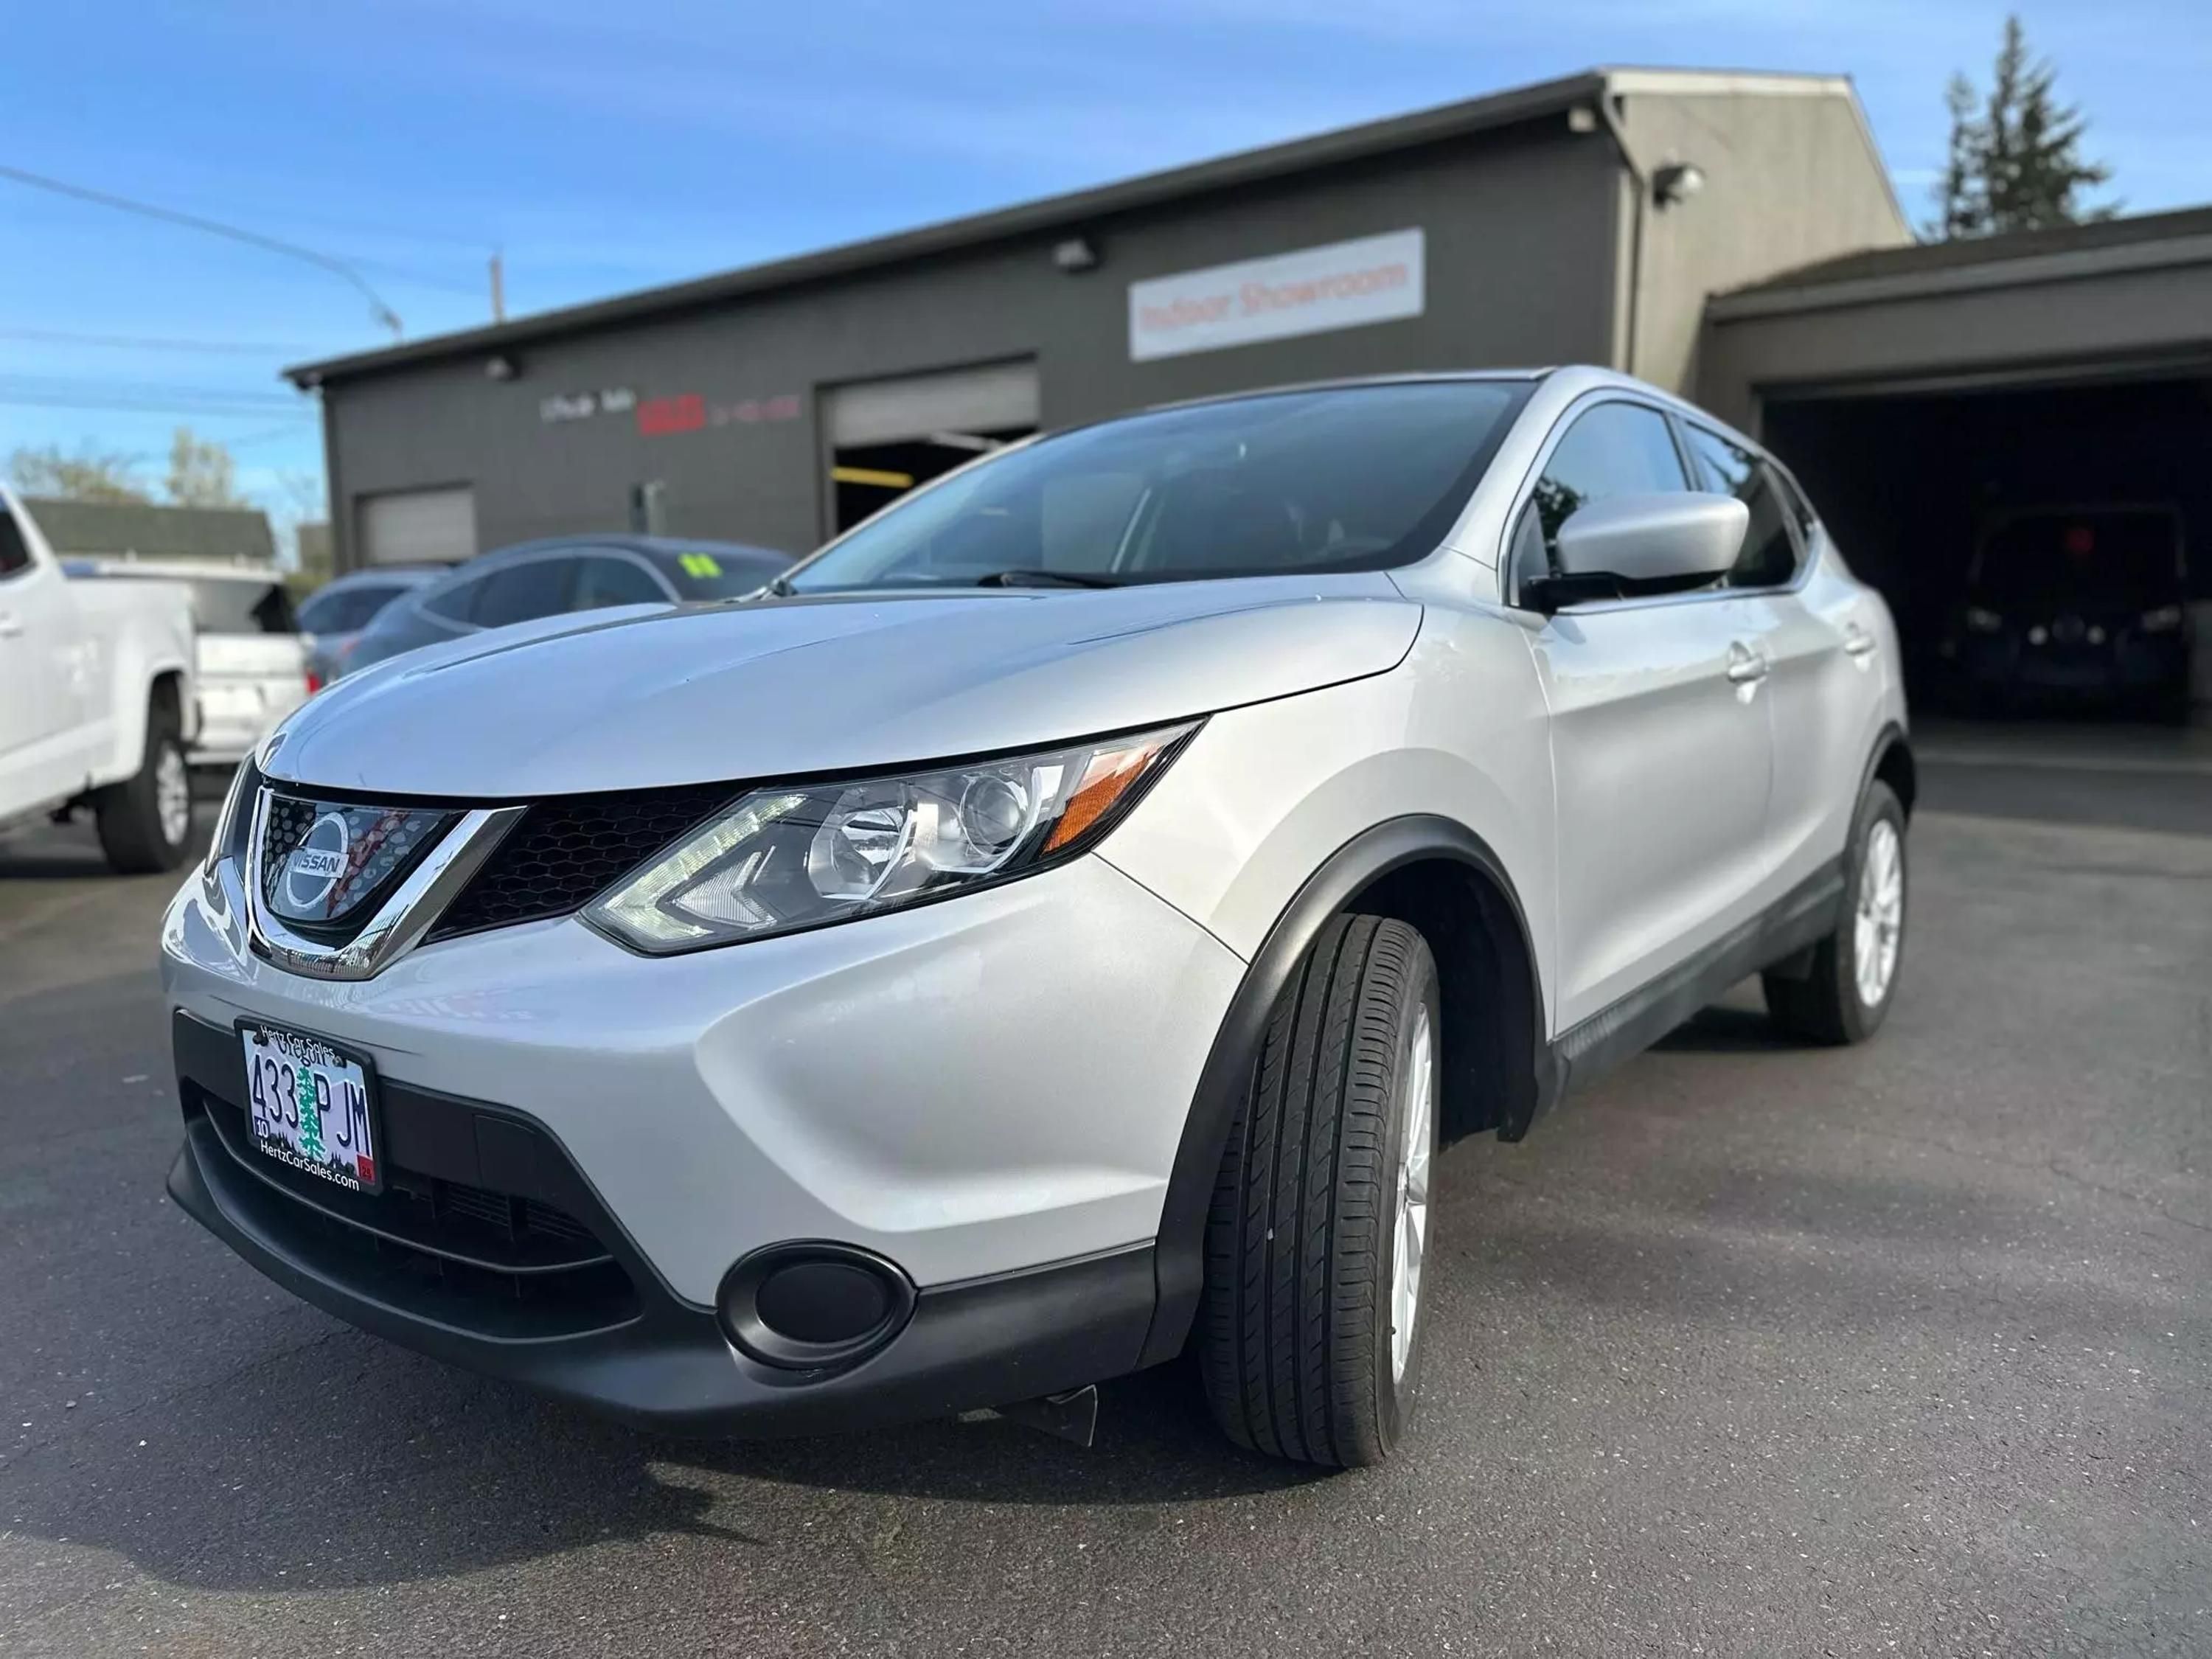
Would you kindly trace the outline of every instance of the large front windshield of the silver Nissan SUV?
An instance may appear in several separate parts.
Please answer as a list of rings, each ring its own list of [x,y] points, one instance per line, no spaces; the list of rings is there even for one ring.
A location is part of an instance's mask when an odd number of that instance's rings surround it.
[[[1458,520],[1528,389],[1276,392],[1079,427],[909,495],[787,582],[823,593],[1411,564]]]

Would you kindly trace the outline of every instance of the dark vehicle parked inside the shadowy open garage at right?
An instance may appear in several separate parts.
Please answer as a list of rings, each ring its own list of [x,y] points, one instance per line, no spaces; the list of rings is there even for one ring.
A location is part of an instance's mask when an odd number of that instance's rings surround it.
[[[2172,507],[2035,507],[1991,520],[1947,655],[1969,701],[2185,719],[2188,564]]]

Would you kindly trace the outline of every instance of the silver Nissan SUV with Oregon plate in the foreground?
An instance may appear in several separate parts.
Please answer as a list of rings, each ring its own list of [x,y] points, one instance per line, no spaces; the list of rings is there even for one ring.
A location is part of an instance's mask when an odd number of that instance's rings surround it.
[[[1106,420],[292,717],[166,918],[170,1192],[641,1422],[1084,1433],[1194,1345],[1234,1440],[1367,1464],[1438,1148],[1747,973],[1867,1037],[1911,796],[1880,597],[1646,385]]]

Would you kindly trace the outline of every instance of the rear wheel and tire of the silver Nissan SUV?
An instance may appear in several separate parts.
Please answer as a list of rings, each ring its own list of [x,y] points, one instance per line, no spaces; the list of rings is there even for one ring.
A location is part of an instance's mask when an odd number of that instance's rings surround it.
[[[1812,947],[1809,973],[1767,969],[1761,975],[1774,1024],[1820,1044],[1865,1042],[1880,1031],[1898,993],[1909,891],[1905,807],[1887,783],[1874,779],[1851,821],[1843,920]],[[1874,967],[1867,953],[1882,953],[1885,964]],[[1869,967],[1865,975],[1863,964]]]

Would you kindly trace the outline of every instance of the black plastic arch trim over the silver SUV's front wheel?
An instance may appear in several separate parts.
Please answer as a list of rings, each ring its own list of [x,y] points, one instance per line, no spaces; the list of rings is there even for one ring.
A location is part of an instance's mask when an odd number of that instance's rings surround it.
[[[1267,938],[1245,967],[1237,995],[1230,998],[1221,1029],[1214,1033],[1190,1102],[1190,1115],[1183,1119],[1183,1139],[1175,1150],[1168,1197],[1159,1214],[1159,1239],[1152,1252],[1159,1294],[1141,1365],[1175,1358],[1190,1336],[1206,1279],[1206,1217],[1212,1208],[1214,1177],[1221,1172],[1230,1126],[1237,1121],[1237,1106],[1243,1099],[1276,998],[1332,916],[1345,911],[1360,891],[1391,872],[1438,858],[1471,867],[1498,891],[1513,916],[1528,962],[1535,1013],[1528,1060],[1537,1086],[1524,1108],[1513,1115],[1509,1130],[1513,1135],[1526,1130],[1528,1119],[1557,1095],[1546,1040],[1544,987],[1535,971],[1535,942],[1528,931],[1528,914],[1504,860],[1473,830],[1436,814],[1387,818],[1363,830],[1329,854],[1276,916]]]

